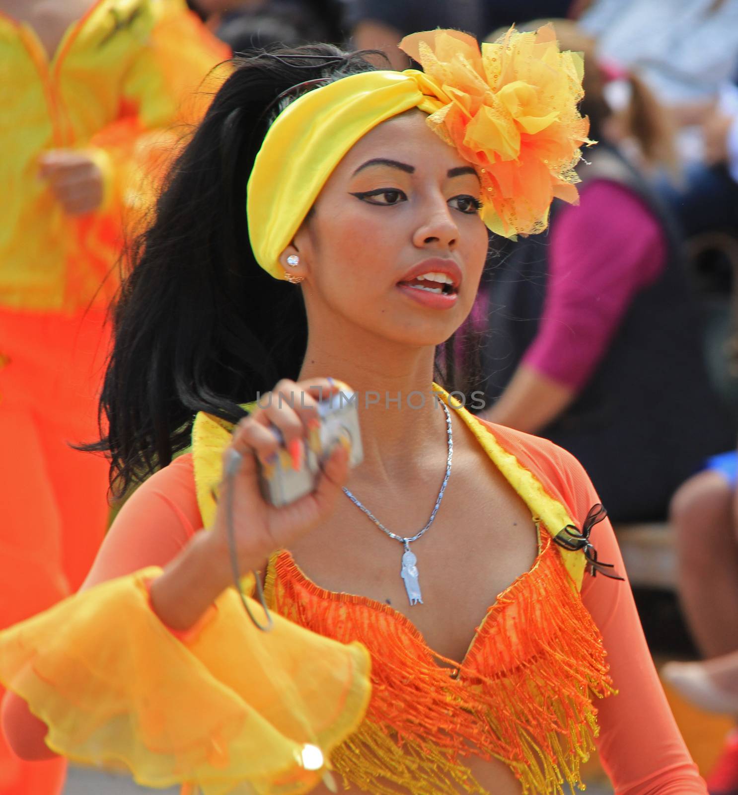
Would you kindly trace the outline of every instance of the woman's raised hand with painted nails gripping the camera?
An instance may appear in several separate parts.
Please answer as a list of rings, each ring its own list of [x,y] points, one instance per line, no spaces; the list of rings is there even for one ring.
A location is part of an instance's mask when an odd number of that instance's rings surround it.
[[[270,456],[279,452],[279,441],[270,428],[270,425],[275,425],[284,438],[283,449],[294,453],[293,459],[299,458],[296,445],[299,448],[300,440],[307,439],[311,428],[319,428],[318,401],[337,393],[342,387],[346,388],[326,378],[310,378],[302,382],[283,379],[270,394],[260,398],[249,417],[239,422],[231,444],[223,453],[223,472],[232,461],[234,451],[241,456],[241,463],[233,477],[224,476],[208,540],[212,554],[217,558],[218,569],[224,572],[224,577],[228,572],[227,581],[230,582],[226,512],[229,498],[238,567],[242,573],[261,568],[272,552],[288,548],[333,512],[349,471],[349,452],[342,444],[336,444],[324,463],[315,490],[279,508],[272,506],[261,494],[257,457],[266,463]],[[305,466],[304,457],[302,465]],[[227,494],[229,488],[233,489],[233,494]]]

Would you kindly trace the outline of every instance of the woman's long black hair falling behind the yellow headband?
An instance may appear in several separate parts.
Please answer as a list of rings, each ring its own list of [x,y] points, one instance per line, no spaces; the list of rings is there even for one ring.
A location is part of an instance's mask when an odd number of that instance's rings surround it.
[[[85,448],[110,457],[114,494],[186,448],[196,413],[237,422],[239,404],[280,378],[296,379],[302,365],[302,292],[253,258],[246,183],[269,124],[289,99],[319,78],[376,67],[332,45],[261,52],[234,66],[126,257],[131,270],[114,308],[99,405],[102,438]],[[449,343],[440,360],[454,372]],[[437,377],[446,380],[438,369]]]

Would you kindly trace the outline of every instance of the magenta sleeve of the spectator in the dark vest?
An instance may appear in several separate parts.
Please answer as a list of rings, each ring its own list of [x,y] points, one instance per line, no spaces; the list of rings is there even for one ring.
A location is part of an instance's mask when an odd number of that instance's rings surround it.
[[[662,224],[631,188],[595,178],[582,187],[580,202],[556,215],[543,316],[523,357],[525,366],[574,394],[605,355],[632,300],[662,275],[668,252]]]

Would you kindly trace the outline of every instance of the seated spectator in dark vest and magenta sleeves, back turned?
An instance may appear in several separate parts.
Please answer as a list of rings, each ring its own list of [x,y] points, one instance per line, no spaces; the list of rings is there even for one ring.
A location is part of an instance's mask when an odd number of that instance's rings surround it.
[[[512,242],[490,263],[485,418],[573,452],[615,520],[664,518],[732,429],[707,386],[678,236],[617,147],[591,41],[573,23],[556,29],[563,48],[585,52],[583,109],[600,143],[578,169],[580,206],[556,208],[550,236]],[[659,111],[632,91],[630,134],[647,154]]]

